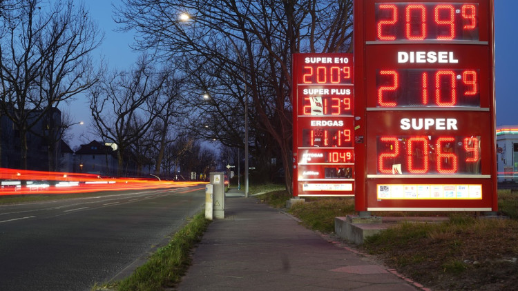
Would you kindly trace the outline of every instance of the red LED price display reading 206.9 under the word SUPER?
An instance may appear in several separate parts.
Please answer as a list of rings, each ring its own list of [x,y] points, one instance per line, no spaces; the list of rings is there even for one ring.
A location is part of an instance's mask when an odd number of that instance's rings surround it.
[[[480,137],[378,136],[378,174],[481,174]]]

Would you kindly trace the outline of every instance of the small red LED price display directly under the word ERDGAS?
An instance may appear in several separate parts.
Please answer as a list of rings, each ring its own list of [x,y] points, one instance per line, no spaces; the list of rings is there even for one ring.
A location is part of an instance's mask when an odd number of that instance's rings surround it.
[[[303,147],[347,148],[352,146],[351,130],[348,128],[303,129]]]

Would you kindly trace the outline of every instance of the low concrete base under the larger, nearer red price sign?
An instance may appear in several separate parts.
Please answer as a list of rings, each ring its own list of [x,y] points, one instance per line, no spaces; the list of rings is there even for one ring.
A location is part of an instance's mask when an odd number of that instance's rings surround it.
[[[334,232],[343,239],[361,245],[367,237],[386,230],[400,222],[441,222],[448,217],[347,217],[334,218]]]

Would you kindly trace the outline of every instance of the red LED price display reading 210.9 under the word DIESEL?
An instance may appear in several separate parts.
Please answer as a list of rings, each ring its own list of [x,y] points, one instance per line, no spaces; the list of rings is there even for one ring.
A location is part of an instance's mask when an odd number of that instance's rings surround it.
[[[479,70],[376,71],[378,107],[480,107]]]

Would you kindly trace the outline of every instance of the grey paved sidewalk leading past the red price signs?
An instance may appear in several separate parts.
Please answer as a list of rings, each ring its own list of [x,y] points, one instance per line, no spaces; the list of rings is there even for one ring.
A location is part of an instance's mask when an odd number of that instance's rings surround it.
[[[233,189],[178,290],[423,290],[409,281]]]

